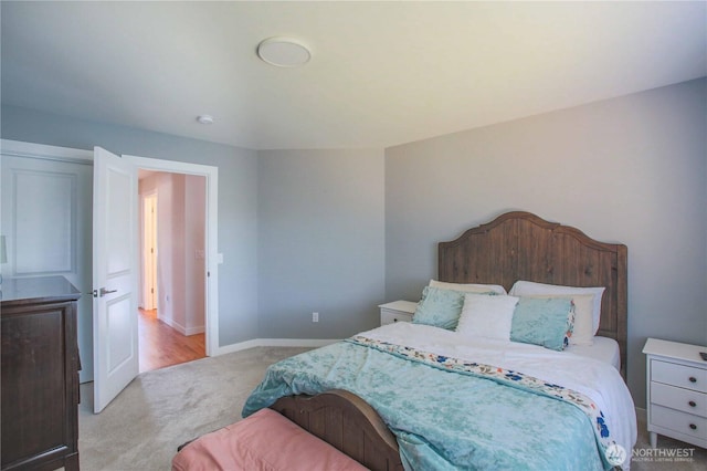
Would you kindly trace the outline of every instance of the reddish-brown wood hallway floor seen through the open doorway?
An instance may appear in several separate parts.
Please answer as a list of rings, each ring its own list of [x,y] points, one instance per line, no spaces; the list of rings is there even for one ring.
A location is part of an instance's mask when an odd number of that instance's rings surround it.
[[[138,310],[140,373],[207,356],[204,334],[184,336],[157,318],[157,310]]]

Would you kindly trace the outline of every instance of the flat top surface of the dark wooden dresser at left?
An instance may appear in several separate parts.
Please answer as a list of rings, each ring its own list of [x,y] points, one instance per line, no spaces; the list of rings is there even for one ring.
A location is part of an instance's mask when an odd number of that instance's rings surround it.
[[[81,292],[64,276],[6,278],[0,285],[0,292],[3,306],[81,297]]]

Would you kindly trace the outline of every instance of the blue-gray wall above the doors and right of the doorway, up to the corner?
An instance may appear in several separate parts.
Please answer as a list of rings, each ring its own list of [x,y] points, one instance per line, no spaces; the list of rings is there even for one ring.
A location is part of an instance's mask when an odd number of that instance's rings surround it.
[[[219,167],[219,345],[256,338],[257,155],[203,140],[2,106],[2,138]]]

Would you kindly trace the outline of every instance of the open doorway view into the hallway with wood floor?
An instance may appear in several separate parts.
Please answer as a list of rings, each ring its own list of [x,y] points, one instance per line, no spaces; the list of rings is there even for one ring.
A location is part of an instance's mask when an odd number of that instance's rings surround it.
[[[138,169],[140,373],[205,357],[205,177]]]

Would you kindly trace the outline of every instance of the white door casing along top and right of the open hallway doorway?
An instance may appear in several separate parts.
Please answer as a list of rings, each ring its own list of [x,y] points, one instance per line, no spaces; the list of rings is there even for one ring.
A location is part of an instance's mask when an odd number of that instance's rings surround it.
[[[124,155],[135,168],[173,174],[202,176],[207,179],[207,209],[204,228],[204,252],[207,264],[205,276],[205,347],[207,356],[219,352],[219,168],[208,165],[188,164],[173,160],[161,160],[147,157]]]

